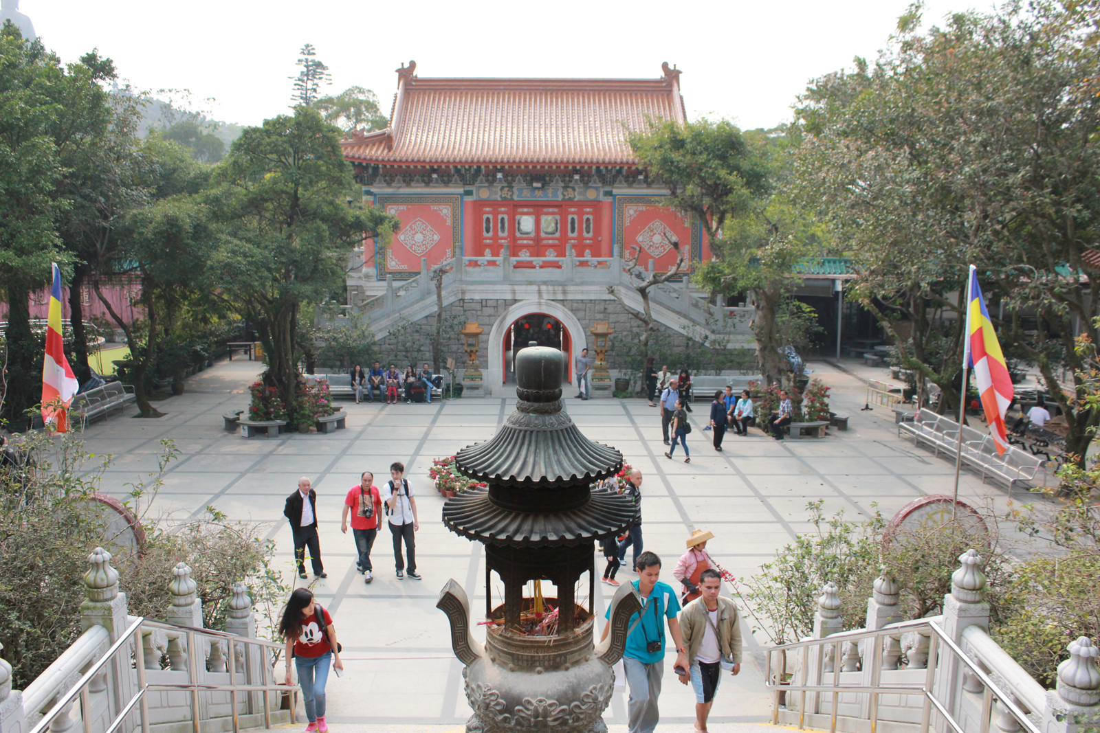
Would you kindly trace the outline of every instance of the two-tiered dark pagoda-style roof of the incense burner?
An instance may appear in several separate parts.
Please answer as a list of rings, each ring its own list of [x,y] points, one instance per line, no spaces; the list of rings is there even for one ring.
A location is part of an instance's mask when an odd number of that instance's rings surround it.
[[[564,357],[528,346],[516,356],[519,403],[484,443],[459,451],[460,473],[488,485],[447,502],[443,523],[496,545],[562,546],[622,532],[634,510],[591,486],[623,468],[623,454],[584,436],[564,411]]]

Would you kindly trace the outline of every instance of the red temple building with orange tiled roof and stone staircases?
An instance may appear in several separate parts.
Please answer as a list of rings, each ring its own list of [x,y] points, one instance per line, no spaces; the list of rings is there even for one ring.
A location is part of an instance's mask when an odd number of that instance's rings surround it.
[[[342,142],[364,200],[402,221],[349,264],[348,312],[385,344],[395,323],[431,321],[442,298],[452,320],[484,329],[493,393],[514,343],[572,357],[594,346],[596,323],[631,337],[627,308],[642,303],[630,264],[669,270],[686,248],[686,271],[652,291],[659,327],[683,345],[754,347],[738,318],[750,309],[692,288],[688,274],[710,257],[703,227],[667,206],[628,142],[648,120],[685,122],[680,75],[662,64],[650,79],[424,78],[403,65],[388,126]]]

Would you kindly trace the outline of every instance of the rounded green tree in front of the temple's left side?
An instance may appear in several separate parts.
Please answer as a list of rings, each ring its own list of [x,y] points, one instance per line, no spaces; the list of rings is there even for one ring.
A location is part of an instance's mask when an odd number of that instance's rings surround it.
[[[351,168],[339,130],[299,105],[233,143],[215,175],[210,206],[221,230],[213,268],[226,297],[255,324],[267,358],[264,381],[288,410],[295,401],[301,304],[343,284],[348,252],[388,236],[399,221],[351,206]]]

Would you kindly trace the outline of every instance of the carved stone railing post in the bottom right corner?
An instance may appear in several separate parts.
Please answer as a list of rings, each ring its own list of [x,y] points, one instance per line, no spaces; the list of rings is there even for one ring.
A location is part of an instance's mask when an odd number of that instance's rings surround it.
[[[1077,733],[1100,729],[1100,648],[1087,636],[1066,647],[1069,658],[1058,665],[1057,687],[1046,693],[1040,730]]]

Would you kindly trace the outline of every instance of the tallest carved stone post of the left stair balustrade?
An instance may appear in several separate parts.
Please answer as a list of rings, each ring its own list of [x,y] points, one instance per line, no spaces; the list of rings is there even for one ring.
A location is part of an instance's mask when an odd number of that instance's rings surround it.
[[[80,604],[80,630],[102,626],[110,634],[109,643],[113,644],[130,625],[130,609],[127,595],[119,592],[119,571],[111,567],[111,554],[102,547],[96,547],[88,555],[84,586],[86,600]],[[107,693],[107,709],[113,719],[134,696],[136,687],[138,675],[130,668],[129,655],[117,654],[102,679],[96,680],[89,689]]]

